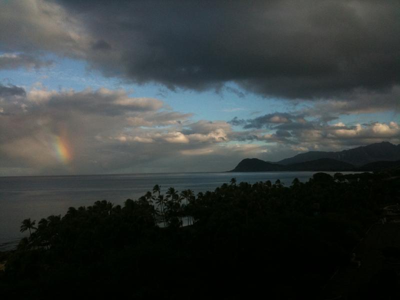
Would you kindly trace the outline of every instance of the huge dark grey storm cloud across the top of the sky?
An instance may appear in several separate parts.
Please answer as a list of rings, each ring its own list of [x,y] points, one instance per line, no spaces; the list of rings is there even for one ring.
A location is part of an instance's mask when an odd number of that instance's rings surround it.
[[[400,81],[398,1],[58,1],[108,75],[313,98]]]

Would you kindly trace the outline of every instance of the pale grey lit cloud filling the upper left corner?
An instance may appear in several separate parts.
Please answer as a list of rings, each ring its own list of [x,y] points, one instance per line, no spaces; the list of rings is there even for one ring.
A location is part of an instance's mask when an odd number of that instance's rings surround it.
[[[42,50],[83,58],[90,41],[79,20],[52,1],[1,1],[0,51]]]

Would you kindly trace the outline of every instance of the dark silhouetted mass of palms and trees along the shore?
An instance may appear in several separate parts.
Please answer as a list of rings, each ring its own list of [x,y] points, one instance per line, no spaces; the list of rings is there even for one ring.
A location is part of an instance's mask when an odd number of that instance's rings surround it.
[[[317,298],[381,207],[399,200],[399,178],[315,173],[287,187],[232,178],[196,196],[155,185],[123,206],[26,219],[1,296]]]

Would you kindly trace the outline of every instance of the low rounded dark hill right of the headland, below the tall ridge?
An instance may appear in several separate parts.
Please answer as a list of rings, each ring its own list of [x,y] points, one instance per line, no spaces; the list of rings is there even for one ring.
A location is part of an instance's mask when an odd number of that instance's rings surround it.
[[[332,158],[320,158],[285,166],[288,171],[350,171],[355,167],[347,162]]]

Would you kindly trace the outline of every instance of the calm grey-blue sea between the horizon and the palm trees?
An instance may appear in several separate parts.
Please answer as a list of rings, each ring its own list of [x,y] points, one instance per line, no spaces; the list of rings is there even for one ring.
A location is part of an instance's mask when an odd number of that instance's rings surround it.
[[[331,172],[333,174],[333,172]],[[88,206],[96,200],[122,204],[127,198],[138,198],[154,184],[165,192],[191,188],[195,193],[214,190],[235,177],[237,182],[280,179],[286,186],[297,177],[308,180],[313,172],[248,173],[160,173],[76,176],[0,177],[0,250],[15,247],[26,235],[19,232],[23,219],[37,221],[50,214],[63,215],[68,207]]]

